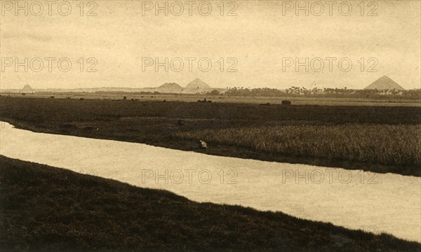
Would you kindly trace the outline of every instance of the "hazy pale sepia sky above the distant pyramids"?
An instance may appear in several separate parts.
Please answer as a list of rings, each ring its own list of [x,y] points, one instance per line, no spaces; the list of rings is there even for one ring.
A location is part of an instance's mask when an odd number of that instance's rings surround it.
[[[420,1],[364,1],[363,15],[361,1],[335,1],[331,12],[326,1],[300,1],[308,15],[297,15],[296,1],[159,1],[167,16],[156,15],[156,1],[85,1],[82,16],[80,1],[68,2],[69,15],[62,1],[51,15],[44,1],[42,13],[28,1],[28,15],[16,16],[15,1],[1,1],[1,88],[184,86],[194,78],[213,87],[363,88],[383,75],[420,88]],[[72,63],[67,72],[62,58]],[[168,71],[156,71],[156,58],[168,59]],[[297,71],[296,58],[308,59],[307,72]],[[87,72],[94,63],[96,72]]]

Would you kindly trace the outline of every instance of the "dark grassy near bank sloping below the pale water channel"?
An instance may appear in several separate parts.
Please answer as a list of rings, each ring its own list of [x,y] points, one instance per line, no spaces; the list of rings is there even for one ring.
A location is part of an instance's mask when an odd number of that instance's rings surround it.
[[[420,251],[390,235],[197,203],[0,156],[1,251]],[[316,211],[316,210],[315,210]]]

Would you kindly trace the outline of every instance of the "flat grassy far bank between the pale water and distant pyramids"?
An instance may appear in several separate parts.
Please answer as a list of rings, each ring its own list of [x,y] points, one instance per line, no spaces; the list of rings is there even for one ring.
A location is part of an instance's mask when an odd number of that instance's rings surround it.
[[[419,107],[0,97],[0,119],[36,132],[421,176]]]

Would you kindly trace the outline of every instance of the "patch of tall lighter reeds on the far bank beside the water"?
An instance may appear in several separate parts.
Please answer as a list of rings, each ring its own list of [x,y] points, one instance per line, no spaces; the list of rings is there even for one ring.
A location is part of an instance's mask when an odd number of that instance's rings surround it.
[[[298,157],[421,165],[421,125],[284,125],[178,132],[180,139]]]

